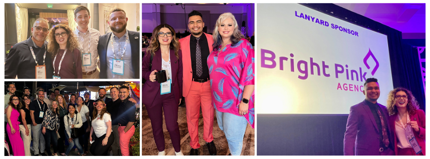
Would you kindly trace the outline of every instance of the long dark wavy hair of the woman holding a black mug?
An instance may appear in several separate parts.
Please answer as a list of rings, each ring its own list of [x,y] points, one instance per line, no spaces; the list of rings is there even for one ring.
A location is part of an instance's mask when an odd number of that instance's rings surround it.
[[[161,28],[168,28],[170,32],[172,32],[172,42],[170,42],[170,49],[175,50],[176,59],[179,59],[179,55],[178,55],[178,51],[180,48],[179,41],[177,38],[175,38],[176,37],[175,29],[173,29],[173,27],[170,26],[169,24],[161,24],[155,27],[154,31],[152,31],[152,35],[155,37],[151,39],[151,42],[150,42],[151,44],[148,46],[147,52],[155,56],[155,51],[160,49],[160,42],[158,41],[158,33],[160,32]],[[145,56],[147,55],[149,54],[146,54]]]

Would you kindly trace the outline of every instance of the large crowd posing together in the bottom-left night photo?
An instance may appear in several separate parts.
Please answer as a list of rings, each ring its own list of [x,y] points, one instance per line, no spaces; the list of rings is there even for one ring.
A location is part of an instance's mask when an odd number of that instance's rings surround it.
[[[30,156],[31,138],[34,155],[69,155],[74,146],[78,155],[107,155],[112,146],[113,155],[129,155],[128,144],[134,134],[136,101],[129,96],[129,87],[112,87],[111,97],[106,89],[99,89],[99,99],[90,99],[75,93],[65,96],[56,89],[50,99],[38,88],[37,98],[15,95],[15,84],[8,84],[5,95],[5,130],[9,150],[14,156]],[[51,99],[51,96],[55,96]],[[66,98],[67,96],[67,98]],[[51,144],[53,147],[51,147]],[[68,145],[65,147],[65,144]],[[54,151],[51,151],[53,148]],[[46,153],[45,153],[46,150]]]

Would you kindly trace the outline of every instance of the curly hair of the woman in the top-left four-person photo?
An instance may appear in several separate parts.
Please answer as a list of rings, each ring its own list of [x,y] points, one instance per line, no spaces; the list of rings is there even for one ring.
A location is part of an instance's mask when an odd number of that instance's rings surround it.
[[[78,39],[76,38],[75,33],[73,32],[72,29],[70,29],[70,27],[68,25],[64,25],[64,24],[60,24],[55,26],[54,28],[52,28],[50,30],[50,33],[48,34],[48,52],[52,53],[52,58],[54,59],[55,56],[57,56],[57,50],[60,48],[60,45],[57,43],[57,40],[55,39],[55,30],[57,29],[64,29],[67,33],[67,35],[69,35],[69,37],[67,38],[67,49],[69,49],[70,51],[73,51],[75,48],[78,48],[79,44],[78,44]]]

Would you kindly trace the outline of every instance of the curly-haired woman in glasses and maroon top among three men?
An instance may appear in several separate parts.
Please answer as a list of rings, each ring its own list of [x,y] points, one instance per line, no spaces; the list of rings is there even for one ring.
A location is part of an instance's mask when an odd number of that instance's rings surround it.
[[[82,61],[75,34],[69,26],[60,24],[51,29],[48,51],[52,52],[53,78],[82,78]]]

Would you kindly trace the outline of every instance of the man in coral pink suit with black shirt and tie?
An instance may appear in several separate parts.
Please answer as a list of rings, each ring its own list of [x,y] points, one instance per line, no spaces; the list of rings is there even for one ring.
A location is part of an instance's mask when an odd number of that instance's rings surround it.
[[[214,108],[211,105],[211,84],[207,58],[212,51],[212,35],[203,33],[202,14],[188,14],[188,28],[192,32],[179,40],[182,50],[183,88],[186,103],[186,121],[191,138],[189,155],[198,155],[200,107],[203,114],[203,139],[211,155],[216,155],[213,142]]]

